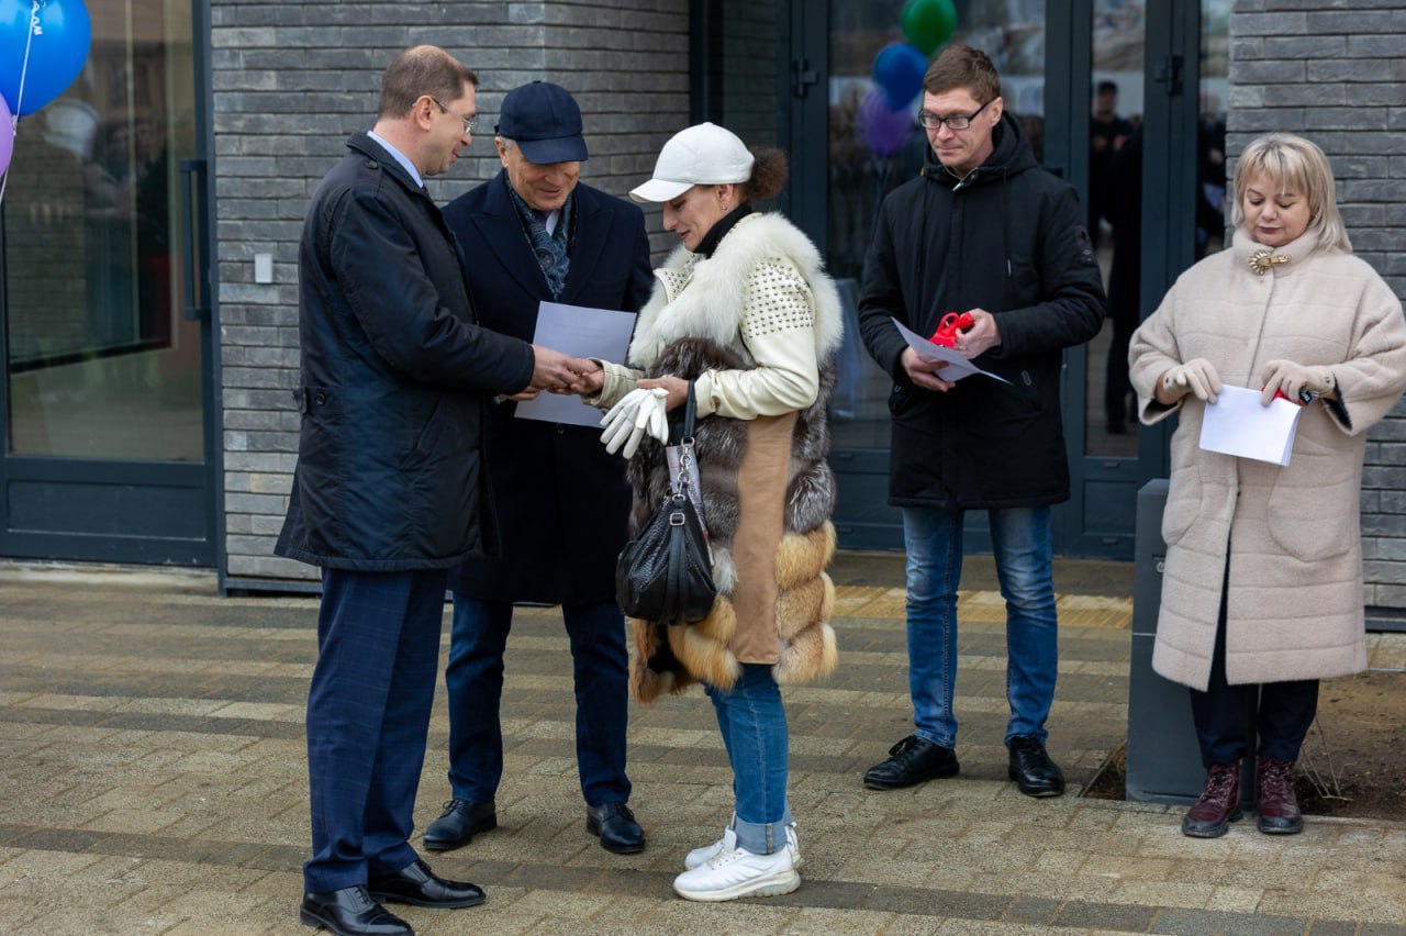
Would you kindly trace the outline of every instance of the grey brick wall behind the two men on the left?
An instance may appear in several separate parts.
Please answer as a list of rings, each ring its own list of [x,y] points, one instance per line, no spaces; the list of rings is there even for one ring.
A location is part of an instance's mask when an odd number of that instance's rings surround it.
[[[232,587],[315,579],[273,555],[298,448],[298,236],[314,186],[375,115],[381,72],[433,42],[479,76],[484,131],[429,183],[443,204],[499,166],[492,128],[512,87],[571,90],[592,157],[582,178],[623,194],[688,122],[688,0],[211,3],[226,573]],[[655,230],[658,214],[652,215]],[[253,281],[271,253],[274,281]]]

